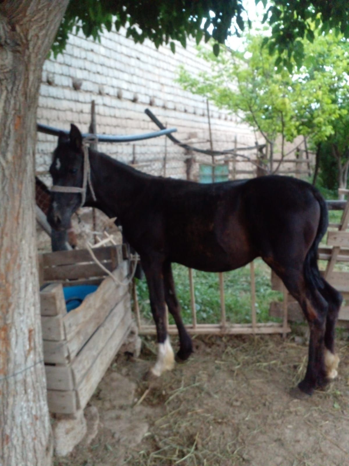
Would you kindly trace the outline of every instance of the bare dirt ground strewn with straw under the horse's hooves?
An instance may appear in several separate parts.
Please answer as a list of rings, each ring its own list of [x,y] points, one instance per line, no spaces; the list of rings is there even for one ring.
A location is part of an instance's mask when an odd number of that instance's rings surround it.
[[[137,359],[117,356],[90,401],[97,436],[54,465],[349,465],[348,340],[337,342],[339,378],[312,397],[291,390],[307,361],[300,337],[194,343],[188,362],[156,382],[143,380],[154,339]]]

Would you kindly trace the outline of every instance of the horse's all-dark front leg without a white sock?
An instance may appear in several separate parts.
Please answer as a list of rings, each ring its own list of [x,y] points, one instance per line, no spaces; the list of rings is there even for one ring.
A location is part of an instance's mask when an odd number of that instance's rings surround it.
[[[181,309],[175,292],[175,282],[173,280],[170,262],[164,264],[163,275],[166,304],[169,312],[175,319],[175,324],[178,329],[180,349],[177,353],[177,357],[182,361],[185,361],[193,352],[193,344],[181,319]]]

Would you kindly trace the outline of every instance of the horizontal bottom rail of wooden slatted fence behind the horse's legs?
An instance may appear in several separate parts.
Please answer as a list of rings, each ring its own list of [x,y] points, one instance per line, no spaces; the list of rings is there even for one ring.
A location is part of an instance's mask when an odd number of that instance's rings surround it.
[[[193,329],[192,325],[185,326],[187,332],[190,335],[249,335],[249,334],[274,334],[285,333],[285,329],[282,325],[269,322],[266,324],[256,324],[255,329],[251,324],[234,324],[227,325],[224,329],[221,327],[221,324],[197,324],[196,328]],[[287,327],[286,332],[291,331],[290,327]],[[155,326],[142,326],[140,329],[140,335],[156,335]],[[170,325],[168,328],[168,333],[170,335],[177,335],[178,330],[175,325]]]

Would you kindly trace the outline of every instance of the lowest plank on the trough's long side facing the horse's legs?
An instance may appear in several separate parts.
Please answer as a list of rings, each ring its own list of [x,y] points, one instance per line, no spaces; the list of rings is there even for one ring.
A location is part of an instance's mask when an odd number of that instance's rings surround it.
[[[84,409],[88,400],[92,397],[101,378],[104,376],[115,354],[128,335],[131,323],[131,313],[127,312],[113,334],[107,340],[104,348],[95,356],[94,363],[76,389],[79,409]]]

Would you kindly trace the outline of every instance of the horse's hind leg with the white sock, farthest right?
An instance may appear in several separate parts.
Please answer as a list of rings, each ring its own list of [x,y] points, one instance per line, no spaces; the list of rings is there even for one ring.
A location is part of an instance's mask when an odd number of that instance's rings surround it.
[[[339,356],[335,353],[335,327],[343,298],[327,281],[322,280],[322,283],[323,288],[320,292],[329,306],[324,336],[325,367],[328,379],[333,380],[338,375],[339,364]]]

